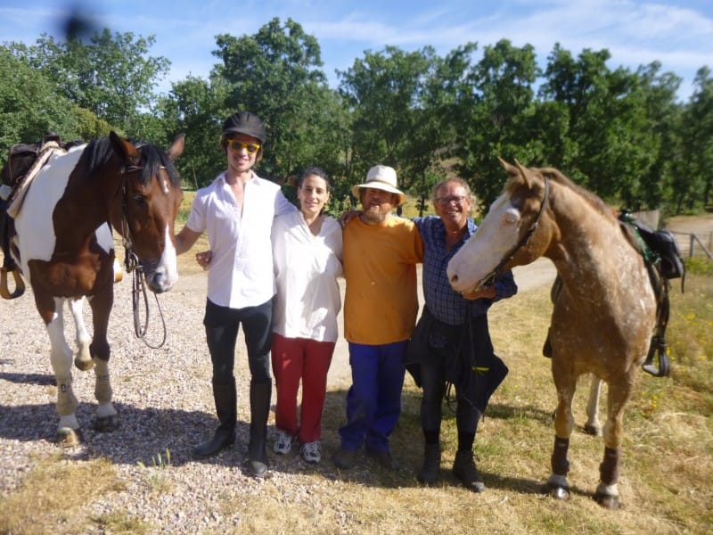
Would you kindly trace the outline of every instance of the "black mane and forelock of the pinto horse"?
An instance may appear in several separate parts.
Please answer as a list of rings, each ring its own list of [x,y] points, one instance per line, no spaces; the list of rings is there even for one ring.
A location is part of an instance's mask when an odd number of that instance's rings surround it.
[[[151,177],[155,176],[161,167],[165,168],[170,177],[171,184],[179,186],[181,183],[178,170],[173,161],[168,158],[168,154],[154,144],[136,142],[129,140],[137,149],[141,149],[141,182],[147,184]],[[86,145],[82,158],[86,161],[85,177],[94,175],[97,169],[104,163],[110,161],[114,156],[114,147],[109,136],[102,136],[94,139]]]

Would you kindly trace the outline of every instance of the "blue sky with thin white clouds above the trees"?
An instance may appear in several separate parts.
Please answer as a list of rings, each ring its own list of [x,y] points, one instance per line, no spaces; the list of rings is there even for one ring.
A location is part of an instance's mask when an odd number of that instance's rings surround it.
[[[555,43],[574,56],[606,48],[611,69],[659,61],[663,71],[684,78],[683,100],[693,92],[696,71],[713,70],[712,0],[3,0],[0,42],[30,45],[43,32],[57,35],[56,21],[76,6],[100,28],[154,35],[150,54],[171,62],[162,91],[189,74],[207,76],[217,62],[211,52],[218,34],[251,35],[274,17],[291,18],[316,37],[332,87],[335,70],[347,70],[365,50],[432,45],[445,55],[467,42],[482,50],[502,38],[533,45],[541,66]]]

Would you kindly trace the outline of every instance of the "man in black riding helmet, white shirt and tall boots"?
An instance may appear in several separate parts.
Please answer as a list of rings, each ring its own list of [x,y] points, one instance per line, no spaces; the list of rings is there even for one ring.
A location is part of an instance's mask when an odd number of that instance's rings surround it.
[[[203,232],[208,233],[210,243],[210,251],[199,253],[196,259],[210,268],[203,325],[213,363],[213,398],[220,425],[212,439],[193,449],[193,456],[210,457],[234,444],[235,342],[242,324],[250,365],[248,468],[255,476],[267,471],[267,416],[272,393],[275,277],[270,229],[275,216],[297,212],[279,185],[252,170],[262,158],[265,140],[265,127],[254,113],[239,111],[225,119],[221,145],[227,169],[198,190],[188,220],[176,235],[178,254],[191,249]]]

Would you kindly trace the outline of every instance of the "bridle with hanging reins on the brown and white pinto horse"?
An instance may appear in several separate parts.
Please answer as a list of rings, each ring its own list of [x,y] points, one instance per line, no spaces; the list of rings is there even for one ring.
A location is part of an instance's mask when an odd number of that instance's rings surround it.
[[[166,319],[163,317],[163,311],[159,304],[159,297],[154,293],[153,297],[156,300],[156,308],[159,310],[161,324],[163,325],[163,338],[158,345],[152,345],[146,341],[146,331],[149,326],[149,297],[146,292],[146,280],[143,273],[143,266],[138,255],[134,251],[134,245],[131,240],[131,228],[128,224],[128,191],[127,191],[127,175],[139,172],[143,166],[129,165],[122,166],[119,171],[121,176],[121,236],[124,243],[124,266],[127,273],[132,273],[132,292],[131,305],[134,312],[134,333],[136,338],[139,338],[147,347],[152,350],[158,350],[166,343]],[[165,169],[165,168],[161,168]],[[146,316],[141,324],[141,301],[143,297],[143,307],[146,309]]]

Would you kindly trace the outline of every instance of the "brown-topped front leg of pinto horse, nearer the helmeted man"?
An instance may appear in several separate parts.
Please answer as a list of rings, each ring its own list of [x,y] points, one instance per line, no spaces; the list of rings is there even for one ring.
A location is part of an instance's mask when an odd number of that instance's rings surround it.
[[[113,304],[113,289],[102,292],[89,299],[92,308],[92,321],[94,325],[94,339],[89,346],[94,361],[94,397],[97,401],[96,420],[94,428],[99,432],[111,432],[119,427],[119,413],[111,403],[111,377],[109,374],[110,348],[107,341],[107,327],[109,314]]]

